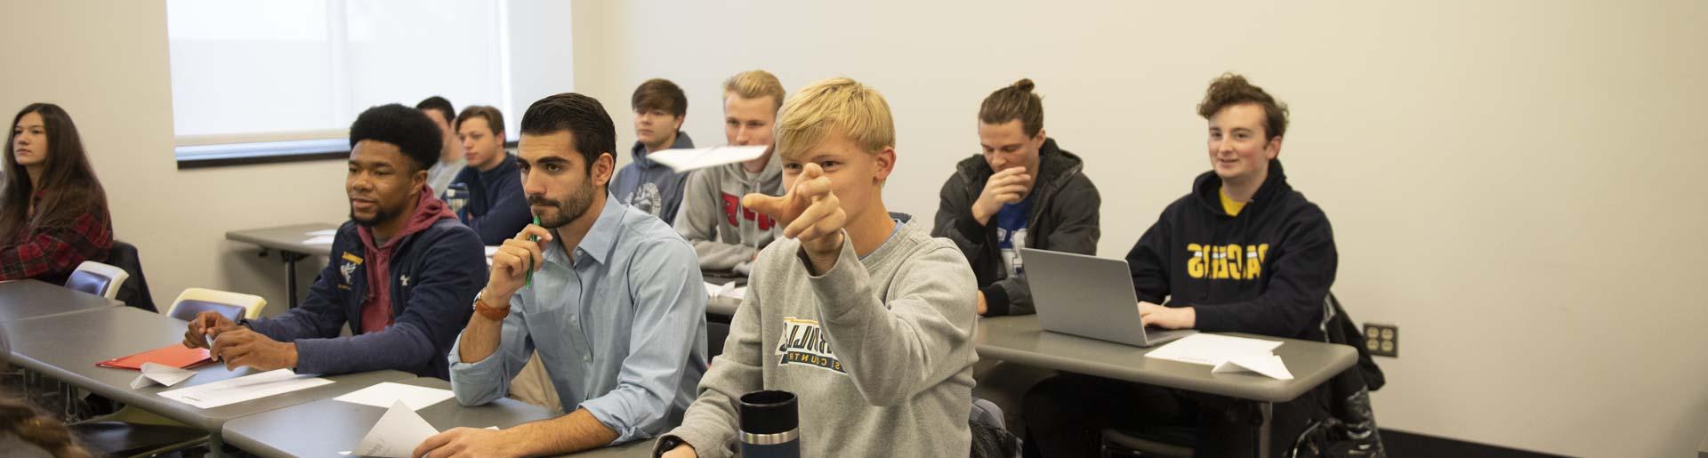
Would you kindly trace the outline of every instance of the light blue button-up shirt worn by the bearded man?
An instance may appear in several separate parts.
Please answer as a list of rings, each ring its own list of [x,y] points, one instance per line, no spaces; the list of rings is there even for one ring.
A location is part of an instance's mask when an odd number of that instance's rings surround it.
[[[613,444],[681,424],[705,374],[707,297],[693,248],[610,197],[574,256],[559,239],[545,244],[533,287],[511,297],[499,350],[463,362],[451,349],[456,400],[504,396],[538,349],[564,407],[617,431]]]

